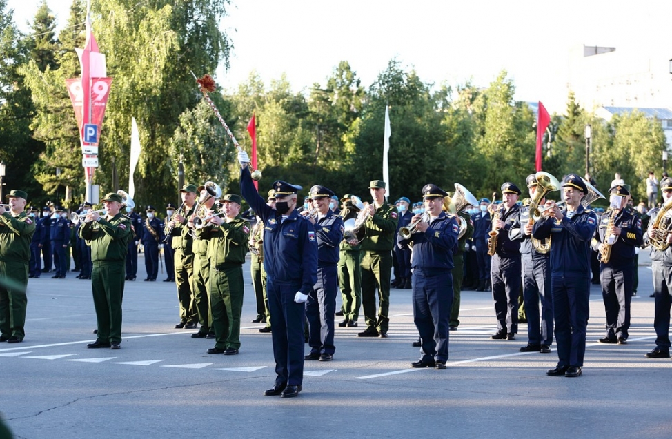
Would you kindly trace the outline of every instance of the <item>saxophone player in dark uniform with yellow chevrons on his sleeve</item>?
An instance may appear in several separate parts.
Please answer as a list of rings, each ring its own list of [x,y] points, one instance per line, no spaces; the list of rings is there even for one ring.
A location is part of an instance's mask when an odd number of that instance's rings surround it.
[[[600,283],[606,313],[606,334],[600,343],[625,345],[630,328],[635,247],[642,245],[642,221],[626,209],[630,191],[623,185],[609,190],[611,208],[597,216],[591,247],[600,256]],[[609,256],[606,256],[609,254]]]

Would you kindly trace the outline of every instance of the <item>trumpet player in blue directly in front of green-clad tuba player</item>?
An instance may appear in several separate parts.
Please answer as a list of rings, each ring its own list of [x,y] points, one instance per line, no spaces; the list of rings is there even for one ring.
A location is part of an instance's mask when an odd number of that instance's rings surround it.
[[[459,225],[442,210],[448,193],[437,185],[422,188],[425,214],[413,216],[411,238],[397,236],[399,247],[413,247],[413,321],[420,334],[420,359],[411,367],[446,369],[448,323],[453,305],[453,252]]]

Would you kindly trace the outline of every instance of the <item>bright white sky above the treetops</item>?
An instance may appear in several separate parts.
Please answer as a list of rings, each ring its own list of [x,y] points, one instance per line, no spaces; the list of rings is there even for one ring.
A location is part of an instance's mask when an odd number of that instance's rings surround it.
[[[22,30],[40,2],[8,0]],[[64,25],[70,1],[47,3]],[[436,85],[487,87],[506,70],[515,99],[562,113],[573,48],[667,45],[672,57],[669,17],[669,0],[232,0],[221,23],[234,44],[230,70],[215,79],[235,90],[253,71],[266,85],[286,74],[299,92],[348,61],[368,88],[396,58]]]

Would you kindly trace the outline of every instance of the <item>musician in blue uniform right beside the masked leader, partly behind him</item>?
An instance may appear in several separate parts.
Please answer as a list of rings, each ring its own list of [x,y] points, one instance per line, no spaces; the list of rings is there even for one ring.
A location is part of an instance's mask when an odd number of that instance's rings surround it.
[[[329,207],[334,193],[327,187],[315,185],[310,188],[310,198],[317,216],[305,212],[315,228],[317,238],[317,283],[308,294],[306,317],[308,318],[308,345],[310,354],[305,360],[331,361],[334,345],[334,316],[338,292],[337,263],[339,245],[343,239],[343,218]],[[304,212],[302,212],[304,214]]]

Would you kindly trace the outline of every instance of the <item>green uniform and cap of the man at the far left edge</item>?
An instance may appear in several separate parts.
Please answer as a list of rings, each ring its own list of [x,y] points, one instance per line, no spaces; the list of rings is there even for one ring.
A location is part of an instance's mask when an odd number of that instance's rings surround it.
[[[21,190],[12,190],[7,198],[28,198]],[[26,285],[30,241],[35,232],[35,222],[26,212],[0,216],[0,340],[17,343],[26,332]]]

